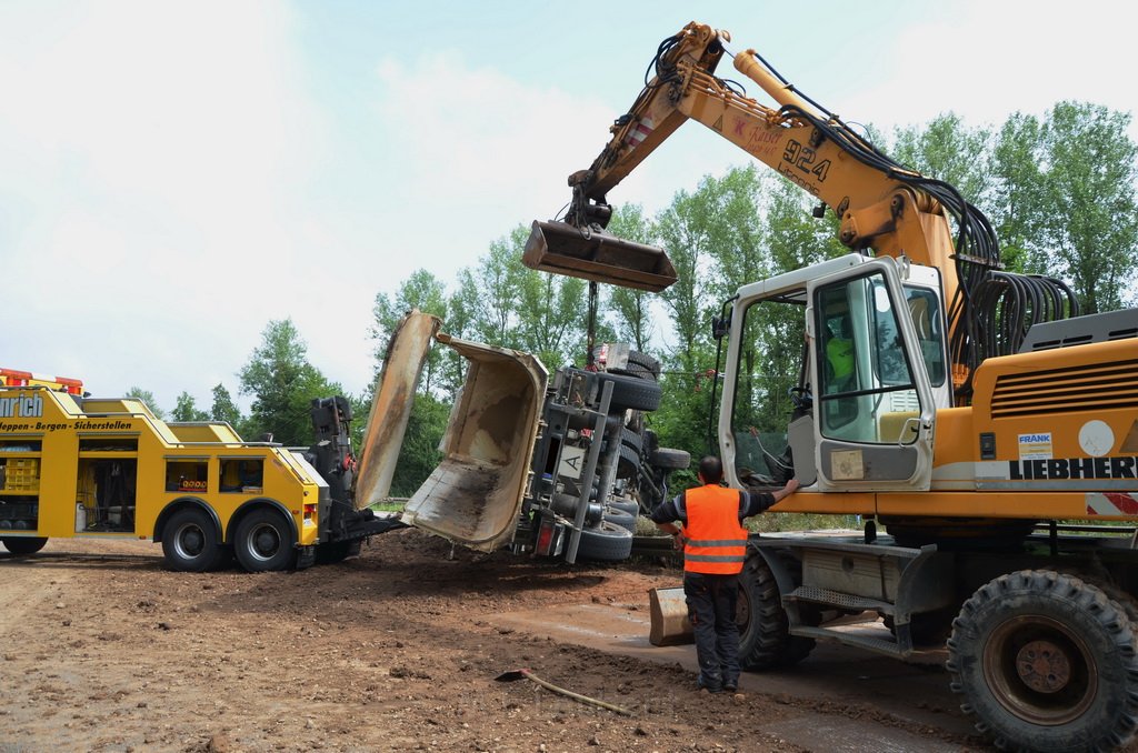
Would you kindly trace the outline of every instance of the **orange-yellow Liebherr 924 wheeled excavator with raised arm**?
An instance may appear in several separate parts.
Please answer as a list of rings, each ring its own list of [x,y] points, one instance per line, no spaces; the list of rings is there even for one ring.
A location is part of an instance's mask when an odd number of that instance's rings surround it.
[[[604,227],[610,191],[688,119],[838,216],[849,254],[742,287],[715,322],[731,485],[793,475],[802,488],[776,512],[867,521],[857,536],[752,537],[744,663],[793,664],[818,639],[906,660],[947,638],[953,689],[999,747],[1124,745],[1138,728],[1138,309],[1079,316],[1061,281],[1005,272],[955,188],[729,42],[692,23],[660,44],[600,156],[570,175],[563,222],[535,222],[523,260],[674,282],[662,249]],[[716,75],[724,55],[774,106]],[[773,367],[756,357],[772,342],[801,347]],[[795,375],[781,414],[774,372]]]

